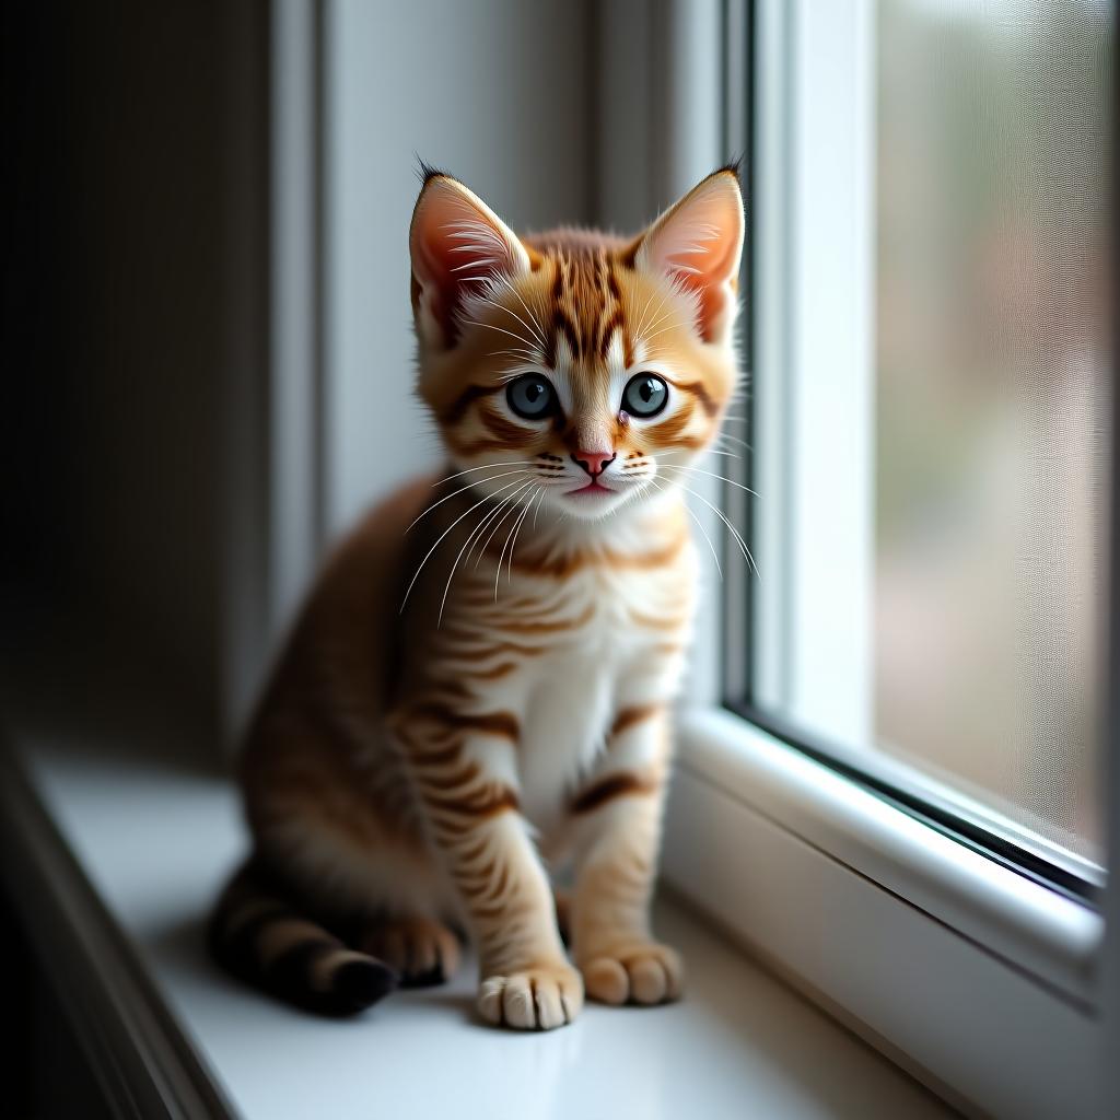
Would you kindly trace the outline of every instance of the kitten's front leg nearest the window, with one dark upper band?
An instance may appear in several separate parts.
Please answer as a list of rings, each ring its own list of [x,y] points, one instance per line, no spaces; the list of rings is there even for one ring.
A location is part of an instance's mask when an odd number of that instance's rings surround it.
[[[678,953],[653,940],[650,898],[657,870],[669,758],[663,709],[626,709],[590,782],[571,804],[576,889],[571,933],[587,993],[605,1004],[661,1004],[680,996]]]

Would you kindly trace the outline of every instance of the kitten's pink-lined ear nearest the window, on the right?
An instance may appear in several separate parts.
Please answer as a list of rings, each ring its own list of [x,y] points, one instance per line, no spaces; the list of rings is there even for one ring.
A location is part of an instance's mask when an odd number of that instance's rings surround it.
[[[721,342],[735,319],[743,255],[743,195],[735,168],[694,186],[642,235],[635,267],[666,276],[697,296],[697,329]]]

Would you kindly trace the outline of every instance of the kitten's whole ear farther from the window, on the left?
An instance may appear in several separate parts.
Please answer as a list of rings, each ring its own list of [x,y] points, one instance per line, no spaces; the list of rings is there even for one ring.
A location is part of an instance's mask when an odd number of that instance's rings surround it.
[[[428,172],[409,230],[412,310],[426,340],[454,346],[464,300],[484,293],[495,277],[529,272],[516,234],[457,179]]]

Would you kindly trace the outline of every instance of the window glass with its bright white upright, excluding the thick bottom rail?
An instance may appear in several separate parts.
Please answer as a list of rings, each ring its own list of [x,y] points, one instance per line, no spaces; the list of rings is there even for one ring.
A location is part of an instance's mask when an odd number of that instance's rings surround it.
[[[776,217],[757,259],[760,496],[738,504],[762,577],[729,693],[1090,892],[1110,9],[881,0],[783,18],[768,155],[794,186],[756,215]]]

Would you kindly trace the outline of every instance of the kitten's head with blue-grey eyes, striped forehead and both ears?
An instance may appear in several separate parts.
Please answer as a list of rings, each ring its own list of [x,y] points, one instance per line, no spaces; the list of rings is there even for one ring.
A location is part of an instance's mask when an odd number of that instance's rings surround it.
[[[598,519],[687,482],[736,385],[743,228],[729,168],[631,240],[519,236],[429,172],[409,234],[419,388],[464,484]]]

